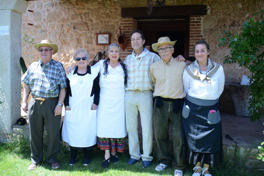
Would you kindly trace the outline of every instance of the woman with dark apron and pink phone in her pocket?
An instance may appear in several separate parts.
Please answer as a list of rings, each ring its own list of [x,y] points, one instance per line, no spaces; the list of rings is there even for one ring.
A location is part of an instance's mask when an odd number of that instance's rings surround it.
[[[196,60],[182,76],[187,94],[182,109],[182,158],[195,164],[192,176],[211,176],[209,166],[223,162],[218,98],[225,76],[223,67],[209,59],[207,42],[197,42],[194,53]]]

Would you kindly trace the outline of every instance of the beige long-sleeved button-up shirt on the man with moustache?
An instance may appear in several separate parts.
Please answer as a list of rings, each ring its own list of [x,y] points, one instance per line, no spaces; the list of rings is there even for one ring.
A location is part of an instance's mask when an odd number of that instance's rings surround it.
[[[173,57],[168,65],[163,60],[152,64],[150,73],[155,87],[153,95],[172,99],[184,98],[186,93],[183,89],[182,74],[185,66],[185,61],[177,61]]]

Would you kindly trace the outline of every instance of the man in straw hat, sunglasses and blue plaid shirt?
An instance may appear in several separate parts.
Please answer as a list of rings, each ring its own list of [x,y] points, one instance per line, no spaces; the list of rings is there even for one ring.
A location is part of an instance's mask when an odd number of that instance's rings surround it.
[[[34,170],[43,159],[44,125],[48,135],[47,162],[53,169],[59,168],[57,154],[60,141],[60,119],[66,94],[66,74],[62,63],[52,59],[58,46],[50,40],[33,45],[40,60],[33,62],[21,81],[24,83],[22,109],[28,113],[31,165]],[[31,100],[27,103],[31,92]]]

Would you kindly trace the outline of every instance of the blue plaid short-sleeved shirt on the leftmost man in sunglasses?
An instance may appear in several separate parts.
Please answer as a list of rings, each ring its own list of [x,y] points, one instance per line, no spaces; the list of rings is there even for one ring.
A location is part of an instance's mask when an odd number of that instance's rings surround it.
[[[31,95],[42,98],[57,97],[67,87],[63,65],[53,59],[46,65],[41,60],[33,62],[21,81],[30,87]]]

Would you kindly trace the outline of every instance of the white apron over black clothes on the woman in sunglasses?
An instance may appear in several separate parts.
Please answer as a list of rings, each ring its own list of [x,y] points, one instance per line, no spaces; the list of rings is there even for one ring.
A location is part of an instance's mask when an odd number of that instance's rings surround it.
[[[73,73],[74,71],[72,71]],[[70,110],[65,110],[62,126],[62,140],[73,147],[89,147],[97,143],[97,110],[91,110],[94,102],[92,92],[96,72],[84,76],[68,74],[72,97],[69,98]]]

